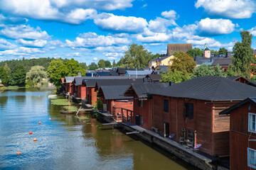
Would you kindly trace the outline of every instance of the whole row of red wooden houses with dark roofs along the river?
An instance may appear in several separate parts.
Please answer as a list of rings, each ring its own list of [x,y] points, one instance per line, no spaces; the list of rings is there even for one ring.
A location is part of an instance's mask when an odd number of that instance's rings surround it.
[[[200,144],[213,157],[230,156],[230,169],[256,167],[256,99],[248,98],[256,87],[248,79],[209,76],[166,84],[142,77],[65,77],[63,84],[91,105],[101,101],[117,122]]]

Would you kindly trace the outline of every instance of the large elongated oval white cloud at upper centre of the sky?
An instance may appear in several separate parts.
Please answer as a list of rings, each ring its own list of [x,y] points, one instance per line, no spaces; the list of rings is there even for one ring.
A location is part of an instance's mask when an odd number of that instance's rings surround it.
[[[95,18],[95,24],[105,30],[139,33],[148,25],[146,19],[134,16],[114,16],[112,13],[101,13]]]

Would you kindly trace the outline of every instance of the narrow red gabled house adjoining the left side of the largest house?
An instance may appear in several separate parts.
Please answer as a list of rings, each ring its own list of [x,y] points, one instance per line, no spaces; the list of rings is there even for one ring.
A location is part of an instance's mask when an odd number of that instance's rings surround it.
[[[152,127],[152,111],[153,100],[151,94],[153,91],[168,86],[165,83],[146,83],[131,84],[124,92],[124,96],[132,96],[134,98],[133,107],[133,123],[151,130]]]

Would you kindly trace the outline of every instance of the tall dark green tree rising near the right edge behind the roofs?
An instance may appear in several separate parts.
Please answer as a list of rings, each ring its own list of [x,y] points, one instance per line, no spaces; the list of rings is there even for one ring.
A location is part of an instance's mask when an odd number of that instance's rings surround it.
[[[233,64],[230,65],[229,72],[234,72],[239,76],[250,78],[252,70],[255,70],[255,57],[253,55],[252,34],[244,30],[240,33],[242,42],[235,42],[233,47]]]

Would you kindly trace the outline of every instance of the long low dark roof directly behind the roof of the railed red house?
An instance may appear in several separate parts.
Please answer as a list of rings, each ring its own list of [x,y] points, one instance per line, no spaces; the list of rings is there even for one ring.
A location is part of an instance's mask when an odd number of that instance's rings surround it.
[[[130,85],[142,84],[143,79],[111,79],[111,80],[97,80],[95,84],[95,91],[100,89],[101,86],[114,86],[114,85]]]

